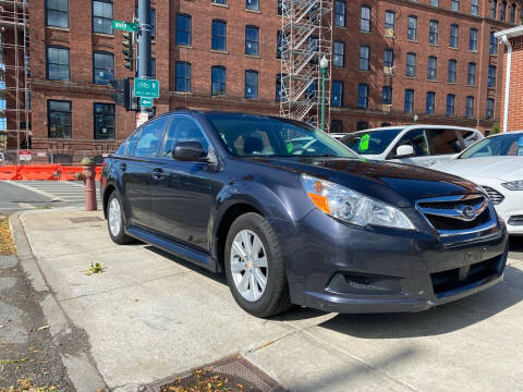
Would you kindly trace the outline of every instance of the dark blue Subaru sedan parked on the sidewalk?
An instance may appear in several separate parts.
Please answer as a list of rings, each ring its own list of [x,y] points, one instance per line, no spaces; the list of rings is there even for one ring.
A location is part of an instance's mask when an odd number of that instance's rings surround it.
[[[311,139],[295,145],[293,140]],[[211,271],[258,317],[291,304],[417,311],[502,279],[507,230],[475,184],[367,161],[293,120],[181,111],[105,161],[104,213],[133,237]]]

